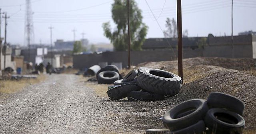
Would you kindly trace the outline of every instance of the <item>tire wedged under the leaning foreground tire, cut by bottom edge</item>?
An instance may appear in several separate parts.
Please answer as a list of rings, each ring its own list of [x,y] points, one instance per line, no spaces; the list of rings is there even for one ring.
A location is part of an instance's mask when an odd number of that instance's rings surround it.
[[[196,124],[188,126],[186,128],[173,131],[171,134],[203,134],[205,132],[205,124],[203,120],[200,120]]]

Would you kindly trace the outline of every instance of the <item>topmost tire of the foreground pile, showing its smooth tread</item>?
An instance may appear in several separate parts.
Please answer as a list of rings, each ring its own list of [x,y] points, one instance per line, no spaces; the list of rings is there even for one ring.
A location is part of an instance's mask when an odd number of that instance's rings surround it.
[[[210,93],[206,102],[209,108],[225,108],[240,115],[244,112],[244,103],[242,101],[224,93]]]

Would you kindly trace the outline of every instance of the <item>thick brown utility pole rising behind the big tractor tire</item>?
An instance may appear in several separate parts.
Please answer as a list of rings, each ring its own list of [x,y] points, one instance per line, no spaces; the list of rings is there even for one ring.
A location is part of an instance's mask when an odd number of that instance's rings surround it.
[[[179,76],[183,80],[182,67],[182,21],[181,21],[181,0],[177,0],[177,24],[178,24],[178,70]]]

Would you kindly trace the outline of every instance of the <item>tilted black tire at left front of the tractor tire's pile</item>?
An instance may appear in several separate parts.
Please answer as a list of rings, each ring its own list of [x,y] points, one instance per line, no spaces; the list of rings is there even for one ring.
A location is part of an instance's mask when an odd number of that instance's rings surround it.
[[[124,84],[118,87],[114,87],[107,91],[108,98],[111,101],[116,101],[127,97],[131,91],[140,91],[141,88],[137,84]]]

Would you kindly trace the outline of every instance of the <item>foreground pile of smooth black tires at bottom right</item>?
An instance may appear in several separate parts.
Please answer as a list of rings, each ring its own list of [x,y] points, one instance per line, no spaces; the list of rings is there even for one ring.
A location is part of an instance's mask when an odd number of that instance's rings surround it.
[[[207,101],[192,99],[174,106],[162,121],[171,134],[242,134],[243,110],[240,100],[214,92]]]

